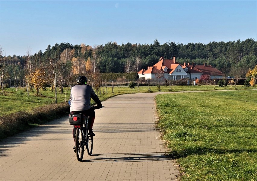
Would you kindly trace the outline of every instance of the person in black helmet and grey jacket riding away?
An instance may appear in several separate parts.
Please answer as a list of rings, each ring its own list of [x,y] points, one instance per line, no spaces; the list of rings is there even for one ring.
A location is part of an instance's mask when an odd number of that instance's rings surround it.
[[[89,122],[89,133],[91,136],[95,136],[93,132],[93,124],[95,120],[95,111],[90,106],[90,100],[92,99],[95,101],[97,106],[96,108],[102,108],[102,103],[99,100],[98,96],[92,89],[90,85],[87,85],[87,78],[85,76],[79,76],[77,78],[77,85],[71,87],[71,96],[70,96],[70,112],[71,114],[85,114],[88,116]],[[73,138],[75,143],[75,134],[76,129],[73,127]],[[75,146],[74,148],[75,149]]]

